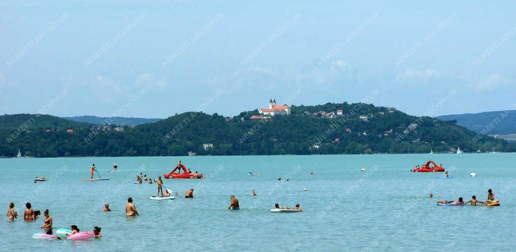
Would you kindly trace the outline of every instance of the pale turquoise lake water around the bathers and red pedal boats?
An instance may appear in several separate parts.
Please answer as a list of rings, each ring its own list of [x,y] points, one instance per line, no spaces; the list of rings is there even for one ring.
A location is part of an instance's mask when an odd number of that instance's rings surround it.
[[[409,171],[430,158],[453,169],[453,179]],[[14,202],[22,215],[15,222],[4,217],[1,250],[515,250],[515,159],[516,153],[0,159],[0,202],[4,211]],[[195,188],[197,198],[150,200],[156,184],[133,183],[140,169],[154,178],[179,160],[207,179],[165,185],[180,196]],[[80,182],[89,179],[92,163],[110,180]],[[113,163],[120,172],[107,172]],[[52,181],[34,183],[37,176]],[[436,206],[438,199],[485,200],[488,188],[501,206]],[[250,196],[253,189],[259,196]],[[239,211],[227,210],[230,195]],[[125,216],[127,197],[140,216]],[[34,210],[50,210],[54,230],[100,226],[104,237],[33,240],[43,218],[23,222],[26,201]],[[112,212],[102,212],[104,202]],[[271,213],[275,203],[299,203],[305,212]]]

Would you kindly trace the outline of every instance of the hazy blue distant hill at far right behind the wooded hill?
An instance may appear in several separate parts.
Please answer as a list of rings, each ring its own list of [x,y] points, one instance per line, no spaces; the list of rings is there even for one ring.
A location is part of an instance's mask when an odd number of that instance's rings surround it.
[[[456,120],[457,125],[484,135],[516,133],[516,111],[492,111],[476,114],[438,116],[440,120]]]

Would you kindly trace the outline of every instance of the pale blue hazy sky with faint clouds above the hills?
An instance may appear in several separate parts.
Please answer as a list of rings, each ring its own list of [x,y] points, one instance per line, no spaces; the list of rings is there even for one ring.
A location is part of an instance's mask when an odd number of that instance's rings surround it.
[[[516,107],[513,1],[157,2],[0,1],[0,114]]]

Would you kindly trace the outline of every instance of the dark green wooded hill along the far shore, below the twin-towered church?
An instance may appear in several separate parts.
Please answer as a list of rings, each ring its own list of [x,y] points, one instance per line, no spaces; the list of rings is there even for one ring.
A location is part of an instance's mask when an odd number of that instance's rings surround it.
[[[343,114],[337,115],[340,109]],[[100,125],[73,132],[31,128],[12,141],[7,138],[14,130],[0,124],[0,155],[13,156],[18,149],[41,157],[186,155],[188,151],[198,155],[428,153],[430,148],[437,153],[459,146],[466,152],[516,151],[514,144],[478,136],[452,122],[372,104],[301,105],[292,106],[289,116],[250,119],[253,115],[257,111],[235,117],[191,112],[134,128]]]

